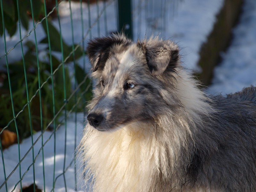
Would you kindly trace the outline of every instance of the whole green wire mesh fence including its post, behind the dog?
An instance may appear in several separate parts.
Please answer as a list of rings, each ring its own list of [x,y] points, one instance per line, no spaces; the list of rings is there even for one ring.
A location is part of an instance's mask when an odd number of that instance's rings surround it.
[[[0,191],[86,190],[76,157],[92,97],[86,42],[163,31],[175,2],[0,0]]]

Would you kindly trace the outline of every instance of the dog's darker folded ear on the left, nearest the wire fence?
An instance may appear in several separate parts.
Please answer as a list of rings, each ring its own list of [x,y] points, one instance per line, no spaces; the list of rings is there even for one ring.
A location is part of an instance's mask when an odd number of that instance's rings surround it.
[[[102,69],[109,57],[110,48],[117,44],[127,45],[131,41],[123,35],[113,35],[90,40],[87,55],[92,64],[92,71]]]

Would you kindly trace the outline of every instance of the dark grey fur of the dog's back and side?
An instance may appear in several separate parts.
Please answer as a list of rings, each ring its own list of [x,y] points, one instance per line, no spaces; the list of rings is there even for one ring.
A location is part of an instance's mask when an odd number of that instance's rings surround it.
[[[215,113],[204,117],[202,135],[195,133],[196,163],[190,172],[197,174],[192,178],[208,182],[209,191],[256,191],[256,87],[211,102]]]

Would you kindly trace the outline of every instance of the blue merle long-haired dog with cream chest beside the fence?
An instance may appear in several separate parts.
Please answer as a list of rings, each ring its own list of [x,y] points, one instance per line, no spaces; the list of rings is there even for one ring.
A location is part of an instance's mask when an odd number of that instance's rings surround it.
[[[87,54],[88,191],[256,191],[256,87],[206,95],[181,67],[179,47],[158,37],[95,38]]]

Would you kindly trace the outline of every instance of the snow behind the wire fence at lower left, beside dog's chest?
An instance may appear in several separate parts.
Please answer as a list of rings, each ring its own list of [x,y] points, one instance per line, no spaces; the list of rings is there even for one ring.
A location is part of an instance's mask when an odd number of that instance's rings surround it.
[[[83,130],[83,119],[84,114],[79,113],[77,114],[77,122],[75,124],[74,116],[69,117],[67,121],[67,141],[66,141],[66,166],[70,164],[72,159],[74,159],[74,151],[75,151],[75,127],[77,128],[77,135],[76,139],[77,142],[81,140],[82,130]],[[39,136],[41,132],[37,132],[33,135],[33,140],[35,141]],[[51,138],[50,138],[51,136]],[[46,142],[48,139],[50,140],[45,144],[44,146],[44,172],[45,172],[45,191],[51,191],[52,190],[52,184],[53,184],[53,162],[54,162],[54,135],[50,131],[46,131],[43,134],[44,142]],[[77,143],[76,143],[77,146]],[[20,157],[22,158],[28,151],[28,149],[31,147],[31,138],[27,138],[22,141],[20,144]],[[41,138],[34,146],[34,153],[35,156],[38,154],[41,145]],[[63,172],[63,165],[64,165],[64,147],[65,147],[65,126],[61,125],[58,130],[56,131],[56,156],[55,156],[55,178]],[[8,176],[14,167],[19,163],[18,158],[18,145],[12,145],[11,147],[4,150],[4,164],[5,164],[5,172]],[[28,153],[28,155],[24,158],[24,160],[21,162],[21,175],[27,171],[28,166],[32,163],[32,150]],[[79,169],[82,167],[80,164],[78,164],[77,174],[79,174]],[[4,182],[4,172],[3,172],[3,166],[1,161],[1,167],[0,167],[0,183],[2,184]],[[44,189],[44,181],[43,181],[43,159],[42,159],[42,151],[40,152],[39,156],[36,159],[35,162],[35,178],[36,178],[36,185],[40,189]],[[75,170],[74,170],[74,162],[71,164],[71,168],[67,170],[65,173],[65,179],[67,182],[67,191],[72,192],[75,191]],[[79,180],[79,175],[77,175],[77,188],[78,191],[84,191],[81,188],[81,179]],[[16,171],[12,174],[12,176],[7,181],[8,184],[8,191],[12,191],[14,188],[14,185],[20,180],[19,177],[19,168],[16,169]],[[26,173],[24,179],[22,180],[22,186],[29,186],[33,183],[33,166],[30,167],[28,172]],[[14,191],[19,191],[20,184],[16,187]],[[5,186],[0,189],[0,191],[5,191]],[[64,179],[63,175],[61,175],[55,183],[54,191],[56,192],[62,192],[65,191],[64,186]]]

